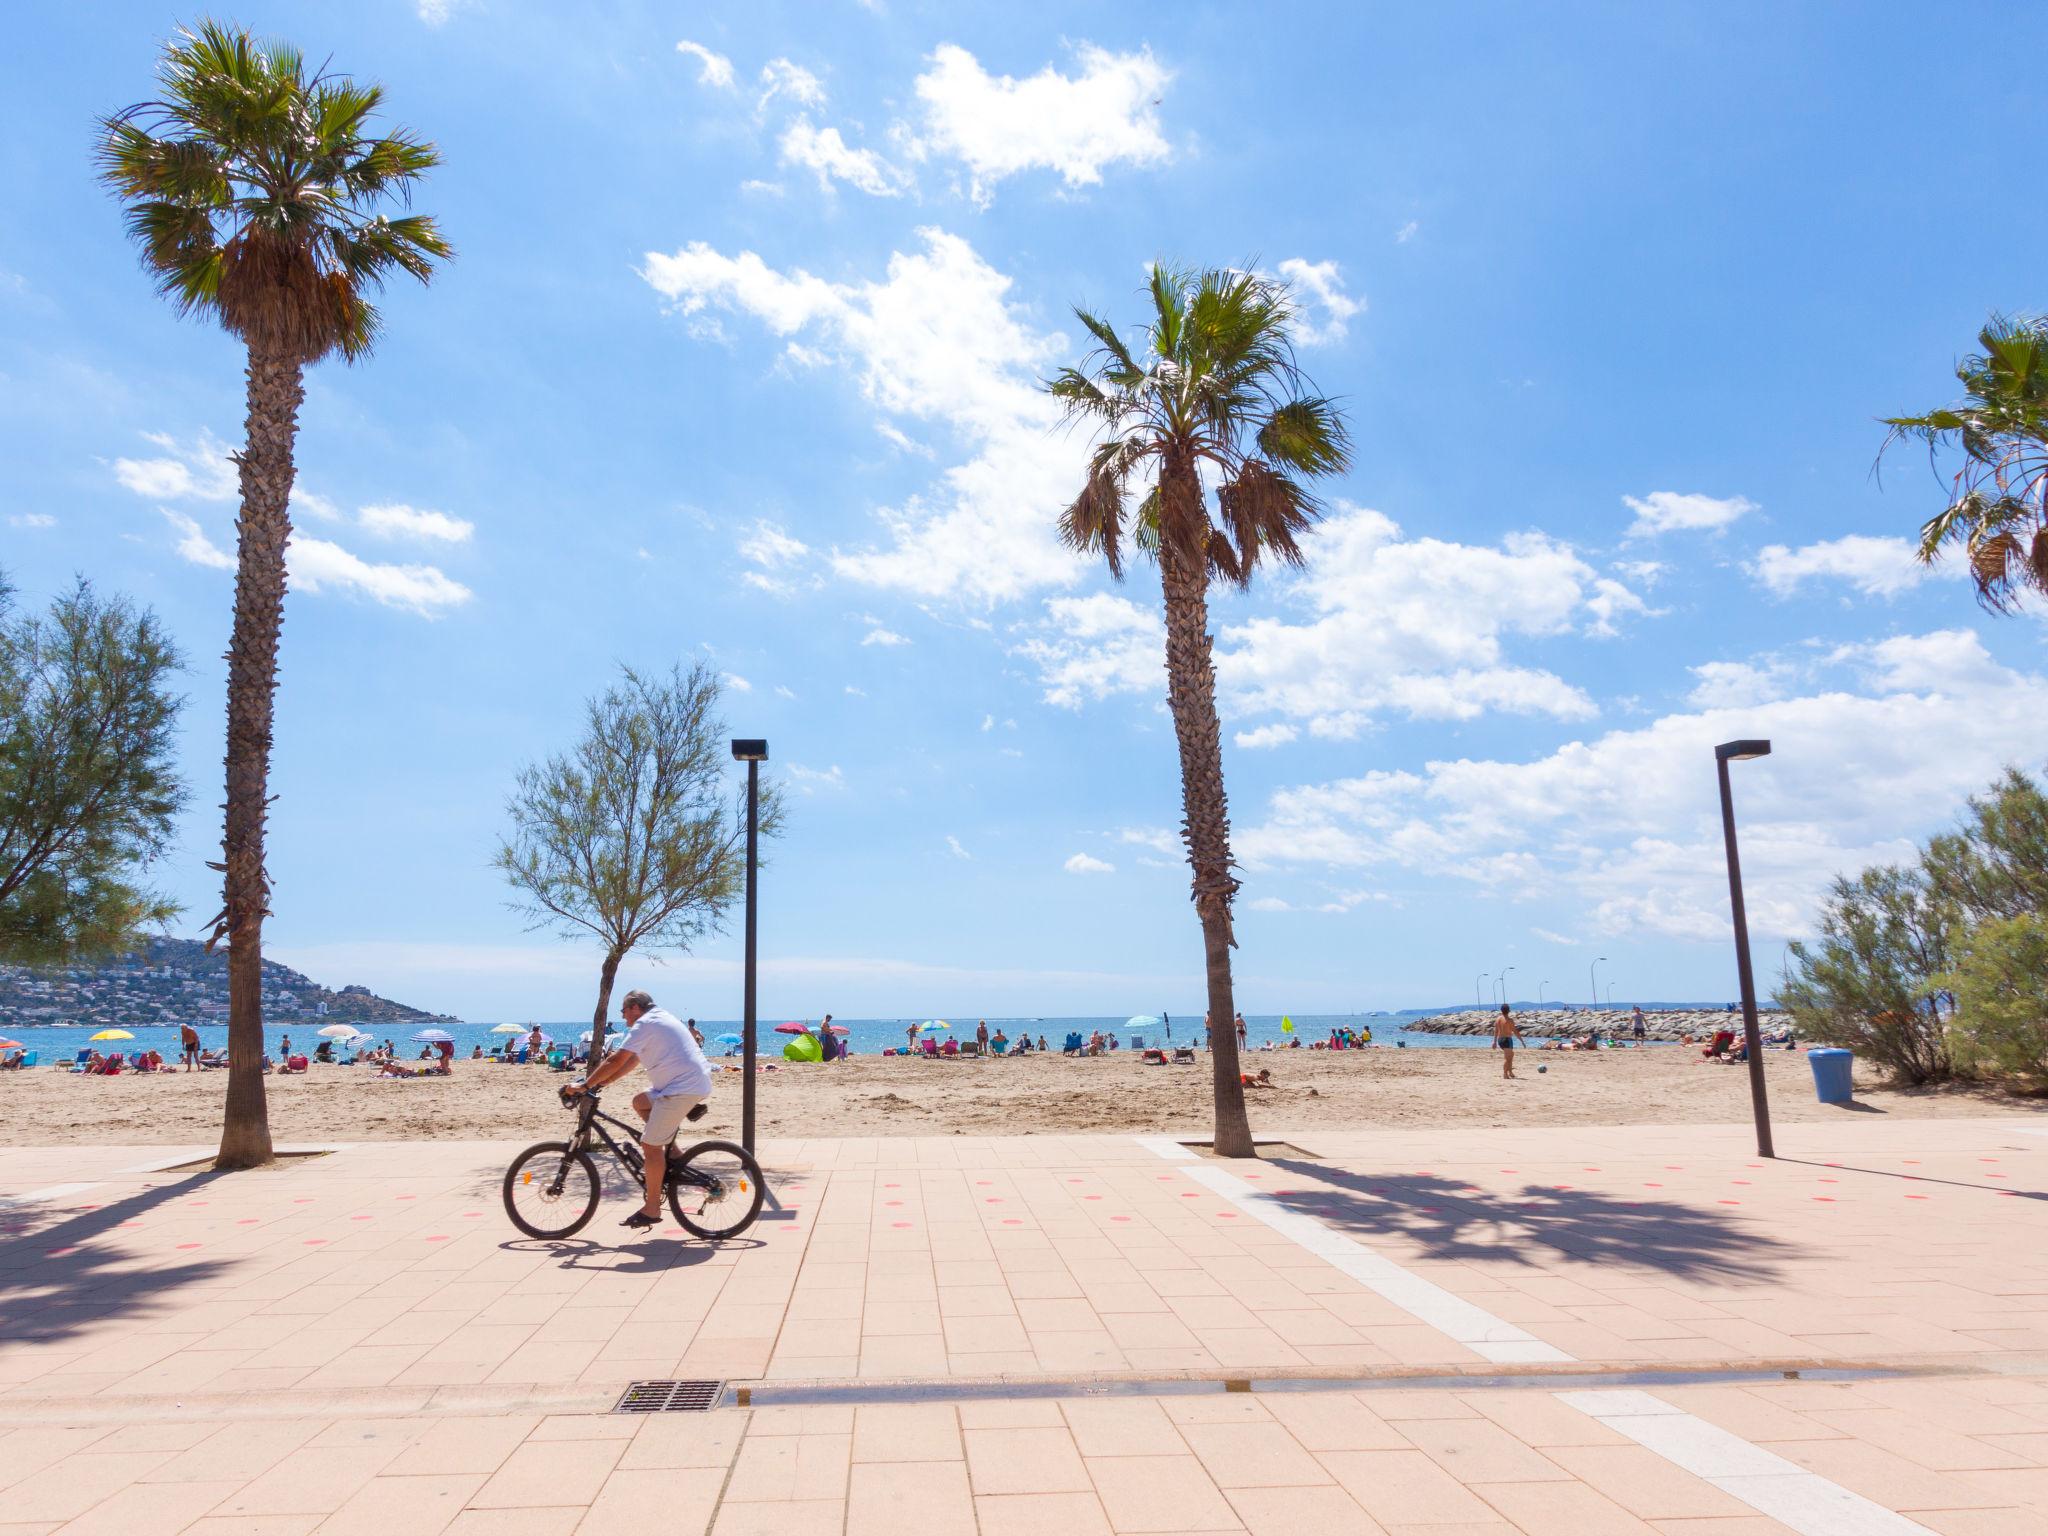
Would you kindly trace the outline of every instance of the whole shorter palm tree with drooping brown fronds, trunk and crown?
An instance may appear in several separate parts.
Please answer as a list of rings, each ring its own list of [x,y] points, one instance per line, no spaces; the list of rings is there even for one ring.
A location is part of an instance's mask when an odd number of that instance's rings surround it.
[[[1151,274],[1151,315],[1126,342],[1085,309],[1096,338],[1079,369],[1047,389],[1096,444],[1087,481],[1061,516],[1073,549],[1124,578],[1124,549],[1159,561],[1165,696],[1180,741],[1182,840],[1194,874],[1208,969],[1214,1151],[1251,1157],[1231,995],[1231,813],[1223,791],[1208,584],[1251,584],[1262,559],[1300,565],[1300,535],[1321,514],[1307,483],[1341,473],[1350,436],[1333,401],[1294,362],[1284,285],[1237,270]],[[1204,479],[1214,485],[1214,516]],[[1133,504],[1133,492],[1139,492]]]

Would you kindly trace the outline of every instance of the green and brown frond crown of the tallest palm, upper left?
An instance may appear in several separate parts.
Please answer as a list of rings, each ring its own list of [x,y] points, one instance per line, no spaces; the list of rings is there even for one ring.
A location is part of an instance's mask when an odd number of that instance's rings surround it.
[[[158,80],[160,100],[100,121],[98,166],[160,291],[258,350],[362,356],[369,293],[451,254],[430,217],[385,213],[440,154],[371,129],[381,86],[219,23],[180,31]]]

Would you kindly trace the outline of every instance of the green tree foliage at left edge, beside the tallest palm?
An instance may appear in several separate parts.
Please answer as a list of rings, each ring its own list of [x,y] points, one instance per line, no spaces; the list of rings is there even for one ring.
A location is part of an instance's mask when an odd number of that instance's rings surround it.
[[[0,580],[0,961],[121,952],[176,913],[135,874],[184,803],[178,670],[152,614],[80,582],[16,616]]]

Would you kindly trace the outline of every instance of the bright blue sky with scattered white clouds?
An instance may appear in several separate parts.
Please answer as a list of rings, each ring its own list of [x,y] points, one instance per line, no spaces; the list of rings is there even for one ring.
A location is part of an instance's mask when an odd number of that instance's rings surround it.
[[[227,12],[223,12],[227,14]],[[1837,872],[2048,760],[2038,616],[1911,559],[1993,311],[2048,303],[1997,145],[2048,14],[1962,4],[231,12],[381,80],[457,260],[307,375],[268,952],[465,1018],[573,1018],[588,944],[489,858],[621,664],[709,662],[770,743],[768,1016],[1196,1014],[1157,573],[1055,520],[1040,381],[1151,262],[1288,281],[1356,461],[1300,573],[1219,594],[1245,1012],[1735,995]],[[92,180],[176,12],[0,57],[0,569],[154,608],[217,909],[236,344]],[[1978,145],[1991,145],[1980,150]],[[737,772],[737,770],[735,770]],[[737,934],[623,981],[739,1012]]]

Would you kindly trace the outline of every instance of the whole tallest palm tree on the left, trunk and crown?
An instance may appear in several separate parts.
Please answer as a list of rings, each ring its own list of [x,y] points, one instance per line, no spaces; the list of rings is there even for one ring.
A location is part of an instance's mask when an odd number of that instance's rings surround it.
[[[180,313],[219,322],[248,348],[248,440],[236,522],[236,621],[227,643],[225,905],[227,1108],[217,1167],[270,1159],[262,1090],[264,817],[276,641],[285,618],[293,442],[305,367],[354,362],[377,336],[369,293],[393,272],[422,283],[449,244],[422,215],[387,217],[440,164],[410,133],[371,131],[381,86],[283,43],[203,23],[164,47],[162,100],[100,123],[100,178],[127,203],[129,236]]]

